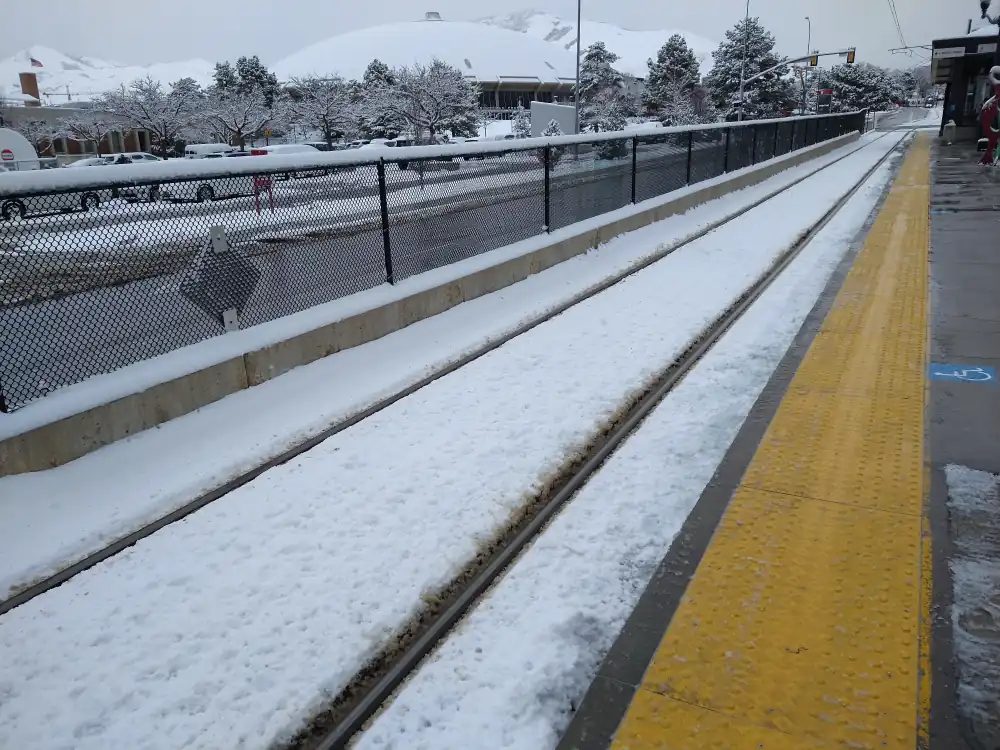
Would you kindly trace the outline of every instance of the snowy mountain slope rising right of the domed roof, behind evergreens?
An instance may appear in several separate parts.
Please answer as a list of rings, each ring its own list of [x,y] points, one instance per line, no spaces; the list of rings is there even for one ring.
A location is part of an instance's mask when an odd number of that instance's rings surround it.
[[[511,31],[519,31],[529,36],[558,44],[567,50],[576,45],[576,21],[567,21],[551,13],[538,10],[521,10],[505,16],[484,18],[482,23],[500,26]],[[687,40],[701,63],[701,73],[706,75],[712,65],[712,51],[719,45],[705,37],[682,29],[658,29],[655,31],[632,31],[610,23],[583,19],[581,44],[586,47],[594,42],[604,42],[609,50],[621,59],[615,67],[622,73],[644,78],[648,71],[646,60],[655,58],[657,51],[673,34],[680,34]]]

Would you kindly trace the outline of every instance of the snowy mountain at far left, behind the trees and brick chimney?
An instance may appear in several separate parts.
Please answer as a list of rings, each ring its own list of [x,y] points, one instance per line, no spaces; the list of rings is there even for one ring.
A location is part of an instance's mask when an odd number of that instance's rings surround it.
[[[33,65],[32,60],[41,63],[41,67]],[[73,101],[86,101],[146,75],[164,85],[188,76],[204,85],[211,81],[214,68],[212,63],[205,60],[148,66],[121,65],[93,57],[71,57],[58,50],[36,45],[0,61],[0,99],[5,95],[16,97],[21,94],[18,73],[23,71],[38,75],[38,88],[43,102],[63,104],[67,101],[67,87]]]

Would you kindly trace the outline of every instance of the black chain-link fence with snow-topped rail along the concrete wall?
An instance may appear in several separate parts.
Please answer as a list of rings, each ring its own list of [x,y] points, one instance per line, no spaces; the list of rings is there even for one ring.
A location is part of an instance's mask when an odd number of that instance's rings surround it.
[[[865,127],[865,113],[0,176],[0,410]]]

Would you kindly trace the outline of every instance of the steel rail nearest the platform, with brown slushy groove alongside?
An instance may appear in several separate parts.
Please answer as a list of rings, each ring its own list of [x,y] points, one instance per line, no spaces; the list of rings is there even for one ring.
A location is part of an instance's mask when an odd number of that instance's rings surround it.
[[[881,137],[872,143],[877,142],[877,140],[881,140]],[[517,523],[507,529],[502,538],[494,539],[487,545],[489,554],[482,555],[472,567],[464,572],[460,579],[453,582],[453,585],[445,592],[444,601],[437,603],[436,613],[427,616],[422,622],[414,623],[409,630],[406,643],[397,642],[391,651],[383,652],[369,662],[363,672],[359,673],[346,689],[334,699],[332,704],[312,722],[309,728],[296,737],[288,747],[296,748],[296,750],[305,748],[309,750],[337,750],[348,747],[352,738],[379,712],[395,691],[419,669],[421,662],[448,637],[455,625],[486,594],[503,572],[513,565],[521,553],[543,533],[564,505],[628,440],[643,420],[719,342],[725,333],[743,317],[751,305],[781,276],[782,272],[809,245],[810,241],[840,212],[855,193],[903,143],[904,141],[900,141],[899,146],[886,152],[850,190],[844,193],[829,211],[813,223],[793,245],[784,250],[771,267],[746,289],[732,306],[723,311],[697,340],[691,342],[689,348],[678,359],[663,370],[642,393],[635,395],[629,404],[623,406],[618,419],[596,436],[586,453],[578,456],[572,465],[564,467],[560,476],[550,482],[542,496],[535,498],[534,502],[525,508]],[[868,144],[868,146],[870,145],[872,144]],[[861,148],[865,147],[867,146]],[[847,158],[859,150],[861,149],[855,149],[843,158]],[[816,170],[816,172],[822,169]],[[816,172],[803,179],[808,179]],[[792,189],[799,182],[801,181],[766,196],[752,206],[719,222],[718,225],[699,233],[698,237],[704,236],[714,231],[718,226],[729,223],[738,216],[776,198]],[[697,237],[690,238],[684,244],[695,239]],[[616,282],[609,281],[602,286],[607,288],[614,283]],[[598,292],[591,292],[587,296],[593,296],[596,293]],[[567,305],[568,307],[569,305]],[[556,314],[559,313],[553,313],[550,317],[554,317]]]

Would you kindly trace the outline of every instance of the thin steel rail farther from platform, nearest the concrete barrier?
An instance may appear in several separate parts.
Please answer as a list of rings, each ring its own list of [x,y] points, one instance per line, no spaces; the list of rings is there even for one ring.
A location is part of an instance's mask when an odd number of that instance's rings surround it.
[[[594,285],[594,286],[592,286],[592,287],[590,287],[590,288],[582,291],[581,293],[579,293],[577,295],[574,295],[573,297],[571,297],[570,299],[568,299],[564,303],[562,303],[562,304],[560,304],[560,305],[558,305],[558,306],[556,306],[554,308],[549,309],[544,314],[539,315],[538,317],[535,317],[533,319],[530,319],[530,320],[526,321],[523,325],[521,325],[517,329],[512,330],[512,331],[508,332],[507,334],[505,334],[503,336],[497,337],[497,338],[495,338],[495,339],[493,339],[493,340],[485,343],[483,346],[481,346],[481,347],[479,347],[479,348],[477,348],[477,349],[475,349],[475,350],[467,353],[466,355],[462,356],[459,359],[456,359],[455,361],[451,362],[447,366],[445,366],[445,367],[443,367],[441,369],[438,369],[438,370],[436,370],[436,371],[428,374],[426,377],[424,377],[424,378],[418,380],[417,382],[411,384],[407,388],[404,388],[403,390],[401,390],[401,391],[399,391],[397,393],[394,393],[393,395],[391,395],[391,396],[389,396],[387,398],[384,398],[384,399],[378,401],[375,404],[372,404],[370,407],[364,409],[363,411],[360,411],[360,412],[358,412],[356,414],[353,414],[348,419],[345,419],[345,420],[343,420],[341,422],[338,422],[337,424],[331,426],[330,428],[328,428],[328,429],[326,429],[326,430],[324,430],[324,431],[322,431],[322,432],[320,432],[320,433],[318,433],[318,434],[310,437],[307,440],[302,441],[301,443],[293,446],[292,448],[290,448],[289,450],[285,451],[284,453],[282,453],[282,454],[274,457],[273,459],[271,459],[271,460],[269,460],[269,461],[267,461],[265,463],[262,463],[262,464],[254,467],[252,469],[249,469],[249,470],[247,470],[247,471],[239,474],[238,476],[233,477],[232,479],[230,479],[229,481],[225,482],[224,484],[222,484],[222,485],[220,485],[220,486],[218,486],[218,487],[216,487],[216,488],[214,488],[214,489],[212,489],[212,490],[210,490],[208,492],[205,492],[204,494],[202,494],[199,497],[195,498],[194,500],[186,503],[185,505],[177,508],[176,510],[172,511],[171,513],[168,513],[168,514],[166,514],[166,515],[158,518],[157,520],[152,521],[151,523],[148,523],[148,524],[142,526],[141,528],[136,529],[132,533],[130,533],[130,534],[126,535],[126,536],[123,536],[122,538],[120,538],[120,539],[112,542],[111,544],[108,544],[108,545],[102,547],[101,549],[98,549],[98,550],[94,551],[93,553],[91,553],[91,554],[87,555],[86,557],[78,560],[77,562],[73,563],[72,565],[68,565],[67,567],[63,568],[62,570],[60,570],[60,571],[58,571],[58,572],[56,572],[56,573],[54,573],[52,575],[45,576],[44,578],[40,578],[39,580],[31,583],[30,585],[19,587],[19,589],[17,590],[16,593],[14,593],[13,595],[9,596],[7,599],[0,600],[0,615],[3,615],[6,612],[9,612],[10,610],[12,610],[14,608],[16,608],[16,607],[18,607],[18,606],[20,606],[20,605],[22,605],[22,604],[24,604],[26,602],[31,601],[35,597],[37,597],[37,596],[39,596],[41,594],[44,594],[45,592],[50,591],[50,590],[52,590],[52,589],[54,589],[54,588],[62,585],[63,583],[65,583],[66,581],[71,580],[72,578],[74,578],[75,576],[79,575],[80,573],[82,573],[82,572],[84,572],[86,570],[89,570],[90,568],[92,568],[95,565],[103,562],[104,560],[107,560],[107,559],[109,559],[111,557],[114,557],[115,555],[121,553],[123,550],[126,550],[129,547],[132,547],[133,545],[135,545],[137,542],[141,541],[142,539],[145,539],[145,538],[151,536],[152,534],[155,534],[160,529],[163,529],[163,528],[165,528],[165,527],[167,527],[167,526],[169,526],[171,524],[174,524],[174,523],[176,523],[176,522],[178,522],[178,521],[180,521],[180,520],[182,520],[182,519],[190,516],[192,513],[200,510],[201,508],[204,508],[205,506],[207,506],[207,505],[215,502],[216,500],[219,500],[220,498],[225,497],[226,495],[230,494],[234,490],[236,490],[236,489],[238,489],[238,488],[240,488],[240,487],[242,487],[242,486],[250,483],[251,481],[253,481],[257,477],[259,477],[262,474],[264,474],[265,472],[267,472],[267,471],[275,468],[276,466],[280,466],[282,464],[287,463],[288,461],[291,461],[292,459],[295,459],[296,457],[298,457],[298,456],[300,456],[300,455],[302,455],[302,454],[310,451],[311,449],[315,448],[320,443],[322,443],[322,442],[328,440],[329,438],[333,437],[334,435],[336,435],[336,434],[338,434],[340,432],[343,432],[344,430],[346,430],[346,429],[348,429],[348,428],[350,428],[350,427],[352,427],[352,426],[354,426],[354,425],[362,422],[363,420],[365,420],[365,419],[367,419],[367,418],[369,418],[369,417],[371,417],[371,416],[373,416],[373,415],[375,415],[375,414],[377,414],[377,413],[379,413],[379,412],[387,409],[388,407],[392,406],[393,404],[395,404],[395,403],[397,403],[397,402],[399,402],[399,401],[407,398],[408,396],[410,396],[410,395],[412,395],[412,394],[414,394],[414,393],[422,390],[423,388],[426,388],[428,385],[436,382],[437,380],[440,380],[441,378],[445,377],[446,375],[448,375],[450,373],[453,373],[453,372],[461,369],[462,367],[465,367],[466,365],[470,364],[471,362],[474,362],[475,360],[480,359],[481,357],[489,354],[490,352],[493,352],[493,351],[499,349],[500,347],[502,347],[505,344],[509,343],[513,339],[515,339],[515,338],[517,338],[519,336],[522,336],[523,334],[525,334],[525,333],[527,333],[527,332],[529,332],[529,331],[537,328],[538,326],[542,325],[543,323],[546,323],[547,321],[550,321],[550,320],[552,320],[553,318],[555,318],[555,317],[557,317],[559,315],[562,315],[563,313],[565,313],[567,310],[571,309],[572,307],[575,307],[576,305],[579,305],[580,303],[582,303],[582,302],[584,302],[584,301],[586,301],[588,299],[591,299],[591,298],[597,296],[598,294],[601,294],[602,292],[610,289],[611,287],[613,287],[613,286],[621,283],[625,279],[627,279],[629,277],[632,277],[632,276],[635,276],[636,274],[638,274],[641,271],[645,270],[646,268],[648,268],[649,266],[653,265],[654,263],[659,262],[660,260],[662,260],[663,258],[667,257],[668,255],[676,252],[677,250],[680,250],[681,248],[683,248],[683,247],[685,247],[687,245],[690,245],[691,243],[693,243],[693,242],[701,239],[702,237],[705,237],[706,235],[708,235],[708,234],[710,234],[710,233],[712,233],[712,232],[720,229],[721,227],[723,227],[723,226],[725,226],[727,224],[730,224],[731,222],[735,221],[736,219],[739,219],[740,217],[742,217],[742,216],[750,213],[754,209],[756,209],[756,208],[758,208],[758,207],[760,207],[760,206],[762,206],[762,205],[764,205],[764,204],[766,204],[766,203],[774,200],[775,198],[778,198],[779,196],[786,194],[787,192],[793,190],[794,188],[796,188],[797,186],[799,186],[800,184],[802,184],[806,180],[809,180],[812,177],[816,176],[818,173],[821,173],[821,172],[823,172],[825,170],[828,170],[831,167],[833,167],[833,166],[841,163],[842,161],[844,161],[844,160],[850,158],[851,156],[857,154],[859,151],[861,151],[863,149],[866,149],[866,148],[872,148],[872,147],[874,147],[875,144],[878,143],[878,141],[882,140],[887,135],[889,135],[889,134],[888,133],[883,134],[883,135],[879,136],[878,138],[875,138],[872,141],[870,141],[870,142],[868,142],[868,143],[866,143],[864,145],[861,145],[861,146],[859,146],[857,148],[851,149],[850,151],[848,151],[847,153],[845,153],[842,156],[838,157],[837,159],[832,160],[832,161],[830,161],[830,162],[828,162],[828,163],[826,163],[826,164],[818,167],[817,169],[812,170],[812,171],[806,173],[802,177],[800,177],[800,178],[798,178],[798,179],[796,179],[796,180],[788,183],[787,185],[784,185],[783,187],[781,187],[779,189],[776,189],[776,190],[774,190],[774,191],[772,191],[772,192],[770,192],[770,193],[762,196],[761,198],[759,198],[759,199],[751,202],[750,204],[748,204],[748,205],[740,208],[739,210],[734,211],[733,213],[728,214],[728,215],[724,216],[723,218],[721,218],[719,220],[716,220],[716,221],[713,221],[713,222],[709,223],[708,225],[706,225],[705,227],[703,227],[701,230],[699,230],[699,231],[697,231],[697,232],[695,232],[695,233],[693,233],[693,234],[691,234],[689,236],[686,236],[683,239],[681,239],[680,241],[677,241],[677,242],[675,242],[675,243],[673,243],[673,244],[671,244],[671,245],[669,245],[669,246],[667,246],[665,248],[662,248],[661,251],[657,252],[654,255],[649,256],[645,261],[643,261],[641,263],[638,263],[638,264],[636,264],[634,266],[631,266],[630,268],[628,268],[627,270],[623,271],[622,273],[619,273],[619,274],[616,274],[614,276],[611,276],[611,277],[605,279],[604,281],[602,281],[601,283],[596,284],[596,285]],[[882,161],[884,161],[884,159],[887,158],[887,157],[888,157],[888,154],[886,155],[886,157],[883,158]],[[881,164],[882,161],[880,161],[879,164]],[[877,166],[878,165],[876,165],[875,168],[877,168]],[[873,170],[875,168],[873,168]],[[866,175],[866,178],[867,178],[867,175]],[[863,182],[864,182],[864,180],[860,181],[858,183],[858,185],[856,185],[854,187],[853,190],[856,190],[857,187],[860,184],[862,184]],[[852,192],[853,192],[853,190],[852,190]],[[835,210],[833,210],[833,212],[831,214],[829,214],[829,216],[832,216],[833,213],[836,213],[836,210],[839,210],[839,207],[842,206],[843,203],[846,202],[846,200],[848,198],[849,198],[849,195],[845,195],[845,197],[843,198],[843,200],[841,201],[841,203],[839,203],[837,206],[834,207]],[[829,220],[829,216],[824,217],[823,225],[825,225],[825,223]],[[818,231],[819,228],[821,228],[821,226],[817,225],[815,227],[815,230]],[[763,279],[762,279],[762,281],[763,281]],[[761,289],[757,293],[757,295],[759,295],[759,293],[762,292],[764,288],[766,288],[766,285],[765,285],[765,287],[761,287]],[[733,319],[733,320],[735,320],[735,319]],[[731,324],[731,322],[732,321],[730,321],[730,324]],[[721,335],[722,332],[724,332],[724,330],[720,331],[719,335]],[[692,360],[692,364],[693,364],[694,361],[696,361],[696,359]],[[633,408],[637,408],[637,404]]]

